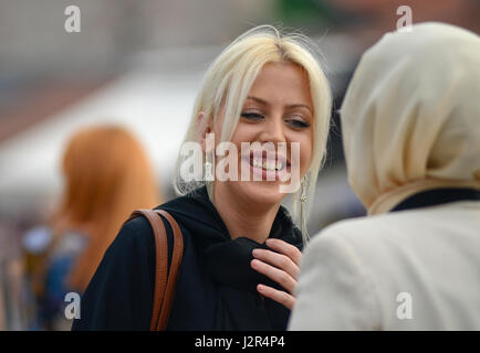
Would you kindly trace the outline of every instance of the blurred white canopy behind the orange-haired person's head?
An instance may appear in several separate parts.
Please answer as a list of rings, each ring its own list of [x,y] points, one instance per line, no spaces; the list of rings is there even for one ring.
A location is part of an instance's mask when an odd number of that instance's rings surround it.
[[[60,160],[80,127],[116,122],[143,142],[165,189],[185,136],[201,73],[132,72],[0,145],[0,212],[61,191]],[[10,213],[10,212],[8,212]]]

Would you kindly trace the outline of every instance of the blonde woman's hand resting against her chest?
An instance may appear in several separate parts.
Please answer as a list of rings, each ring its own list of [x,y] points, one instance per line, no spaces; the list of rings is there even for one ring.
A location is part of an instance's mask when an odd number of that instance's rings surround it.
[[[278,253],[267,249],[254,249],[254,259],[251,261],[251,267],[278,282],[286,289],[286,291],[281,291],[264,285],[258,285],[257,290],[260,295],[292,310],[295,303],[293,291],[296,286],[302,253],[295,246],[280,239],[267,239],[267,246]]]

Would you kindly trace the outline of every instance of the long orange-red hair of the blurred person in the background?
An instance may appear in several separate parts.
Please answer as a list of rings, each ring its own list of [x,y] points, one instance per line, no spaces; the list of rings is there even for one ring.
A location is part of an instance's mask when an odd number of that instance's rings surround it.
[[[63,156],[65,189],[53,215],[55,236],[87,229],[88,245],[69,274],[84,290],[102,257],[135,208],[160,203],[154,173],[137,139],[117,126],[77,131]]]

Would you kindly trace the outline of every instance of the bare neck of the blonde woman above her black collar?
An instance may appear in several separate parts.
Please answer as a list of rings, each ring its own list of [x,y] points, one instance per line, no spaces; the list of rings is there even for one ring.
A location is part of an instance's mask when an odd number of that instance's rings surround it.
[[[280,204],[252,204],[248,200],[231,195],[227,188],[221,186],[213,188],[213,203],[232,239],[247,237],[260,244],[269,237],[280,207]]]

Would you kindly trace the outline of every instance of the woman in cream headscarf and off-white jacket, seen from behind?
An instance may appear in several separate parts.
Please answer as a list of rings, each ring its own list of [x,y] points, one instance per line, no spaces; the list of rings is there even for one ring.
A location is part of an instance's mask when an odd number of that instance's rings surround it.
[[[291,330],[480,329],[480,39],[422,23],[362,57],[341,110],[367,217],[305,250]]]

